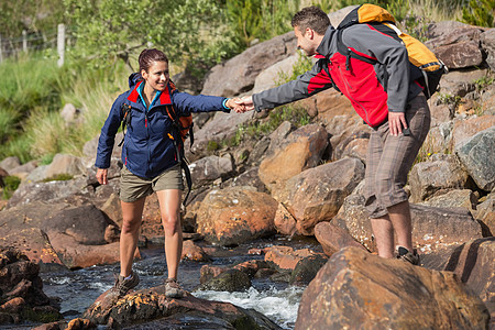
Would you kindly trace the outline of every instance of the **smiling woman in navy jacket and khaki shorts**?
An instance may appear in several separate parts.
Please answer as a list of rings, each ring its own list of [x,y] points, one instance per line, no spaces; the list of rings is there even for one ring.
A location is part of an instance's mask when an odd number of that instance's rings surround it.
[[[168,58],[158,50],[144,50],[139,57],[140,74],[129,78],[130,90],[120,95],[101,129],[95,166],[97,178],[108,184],[108,168],[116,133],[123,120],[122,109],[129,108],[127,134],[122,147],[120,199],[122,230],[120,235],[120,275],[113,290],[124,296],[140,279],[132,272],[132,261],[138,245],[139,231],[147,195],[156,193],[165,230],[165,256],[168,277],[165,295],[183,297],[185,292],[177,283],[177,270],[183,249],[180,227],[180,199],[184,190],[180,165],[173,141],[173,121],[166,107],[178,113],[242,111],[235,99],[212,96],[191,96],[179,92],[169,80]]]

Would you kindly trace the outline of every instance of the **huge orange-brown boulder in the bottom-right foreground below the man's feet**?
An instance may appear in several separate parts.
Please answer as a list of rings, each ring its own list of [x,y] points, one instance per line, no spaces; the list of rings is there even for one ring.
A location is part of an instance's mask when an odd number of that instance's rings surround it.
[[[302,294],[295,329],[487,329],[488,318],[451,272],[345,248]]]

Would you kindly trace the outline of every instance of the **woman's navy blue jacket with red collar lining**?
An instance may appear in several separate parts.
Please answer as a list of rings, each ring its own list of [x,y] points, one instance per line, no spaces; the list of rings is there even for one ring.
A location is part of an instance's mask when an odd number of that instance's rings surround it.
[[[140,74],[129,77],[130,90],[120,95],[113,102],[107,121],[101,129],[98,141],[98,153],[95,166],[110,167],[116,134],[123,120],[122,105],[131,106],[131,122],[127,127],[125,140],[122,147],[122,162],[136,176],[154,178],[165,169],[177,164],[176,148],[168,138],[173,129],[173,121],[167,116],[166,106],[172,105],[177,113],[224,111],[226,98],[213,96],[191,96],[179,92],[167,85],[166,89],[154,100],[146,110],[140,96]],[[144,85],[143,85],[144,86]],[[141,88],[143,87],[141,86]]]

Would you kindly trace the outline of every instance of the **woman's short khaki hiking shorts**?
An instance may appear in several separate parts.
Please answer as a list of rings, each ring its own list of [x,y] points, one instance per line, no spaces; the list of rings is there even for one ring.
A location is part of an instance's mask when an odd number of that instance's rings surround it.
[[[120,175],[120,199],[133,202],[146,197],[153,191],[179,189],[184,190],[183,172],[180,165],[174,165],[152,179],[132,174],[125,166]]]

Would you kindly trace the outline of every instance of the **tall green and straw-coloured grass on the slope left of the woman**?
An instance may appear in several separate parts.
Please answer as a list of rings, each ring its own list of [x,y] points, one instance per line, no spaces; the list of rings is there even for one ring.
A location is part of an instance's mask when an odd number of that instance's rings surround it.
[[[0,65],[0,160],[18,156],[50,162],[57,153],[80,155],[95,138],[119,92],[128,89],[128,69],[86,68],[34,54]],[[3,92],[4,91],[4,92]],[[67,124],[59,111],[66,103],[81,110],[76,123]]]

